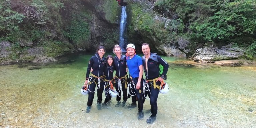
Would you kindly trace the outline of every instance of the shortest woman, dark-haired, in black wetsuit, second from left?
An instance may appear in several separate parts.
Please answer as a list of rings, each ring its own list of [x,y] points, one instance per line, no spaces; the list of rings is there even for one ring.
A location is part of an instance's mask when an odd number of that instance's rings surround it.
[[[106,60],[105,60],[105,63],[106,63],[106,66],[104,68],[104,88],[105,88],[105,95],[106,95],[106,98],[105,98],[105,101],[104,103],[106,104],[108,101],[110,101],[111,99],[111,96],[109,94],[109,91],[110,91],[110,86],[114,84],[114,70],[115,70],[115,66],[113,64],[113,56],[111,55],[108,55]]]

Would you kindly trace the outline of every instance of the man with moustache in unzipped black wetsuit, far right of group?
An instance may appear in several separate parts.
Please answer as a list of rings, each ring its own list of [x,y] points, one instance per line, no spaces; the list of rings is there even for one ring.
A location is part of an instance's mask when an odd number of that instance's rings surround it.
[[[142,56],[143,70],[146,75],[146,81],[150,88],[150,105],[152,115],[147,119],[147,123],[152,124],[156,120],[157,114],[157,98],[160,90],[161,82],[166,78],[168,71],[168,63],[157,54],[150,52],[149,44],[142,44]],[[159,72],[159,64],[164,66],[163,73]]]

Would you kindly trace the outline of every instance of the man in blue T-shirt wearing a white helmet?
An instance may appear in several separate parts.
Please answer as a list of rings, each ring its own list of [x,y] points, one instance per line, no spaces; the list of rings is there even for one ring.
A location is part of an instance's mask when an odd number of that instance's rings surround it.
[[[143,110],[143,94],[142,94],[142,84],[143,84],[143,66],[142,66],[142,58],[135,54],[135,46],[133,44],[128,44],[126,46],[127,51],[127,66],[129,69],[131,81],[131,87],[136,86],[136,97],[138,101],[138,119],[144,118]],[[134,83],[134,85],[132,84]],[[132,99],[133,101],[133,99]],[[133,101],[134,102],[134,101]]]

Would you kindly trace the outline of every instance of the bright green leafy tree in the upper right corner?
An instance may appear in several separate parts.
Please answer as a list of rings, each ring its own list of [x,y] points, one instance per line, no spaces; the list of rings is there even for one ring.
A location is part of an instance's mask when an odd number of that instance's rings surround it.
[[[205,40],[224,39],[225,37],[253,34],[256,32],[256,2],[253,0],[233,2],[217,1],[221,9],[205,20],[196,24],[195,30]]]

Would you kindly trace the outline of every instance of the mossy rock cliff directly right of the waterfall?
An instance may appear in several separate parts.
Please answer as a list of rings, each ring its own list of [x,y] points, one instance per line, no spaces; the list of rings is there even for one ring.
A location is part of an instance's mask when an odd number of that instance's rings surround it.
[[[148,43],[151,51],[160,55],[186,57],[187,43],[175,39],[168,27],[172,20],[154,10],[148,0],[127,0],[128,42],[141,51],[141,44]],[[175,18],[175,17],[173,17]]]

